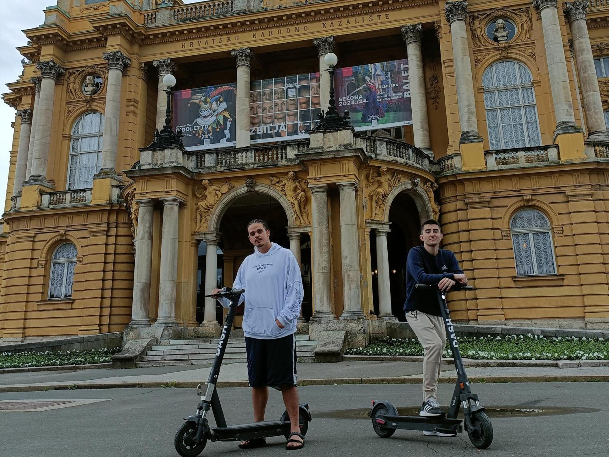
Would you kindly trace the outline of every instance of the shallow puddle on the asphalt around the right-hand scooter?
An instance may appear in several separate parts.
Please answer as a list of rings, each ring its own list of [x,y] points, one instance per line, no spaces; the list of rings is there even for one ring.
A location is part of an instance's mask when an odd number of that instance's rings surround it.
[[[543,406],[543,408],[523,408],[518,405],[484,406],[489,417],[533,417],[560,416],[563,414],[598,413],[596,408],[566,408],[564,406]],[[400,416],[418,416],[420,406],[396,406]],[[340,409],[337,411],[313,411],[314,417],[320,419],[368,419],[370,408]],[[463,414],[459,414],[463,417]]]

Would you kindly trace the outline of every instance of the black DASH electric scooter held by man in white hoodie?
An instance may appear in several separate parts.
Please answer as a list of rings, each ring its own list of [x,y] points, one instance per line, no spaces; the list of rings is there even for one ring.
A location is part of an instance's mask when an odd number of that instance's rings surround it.
[[[245,289],[224,288],[216,295],[207,295],[206,297],[224,297],[231,300],[228,314],[224,322],[224,328],[220,335],[220,342],[216,350],[214,364],[209,372],[209,378],[206,384],[197,386],[197,395],[201,396],[197,411],[193,416],[185,417],[185,423],[175,434],[174,445],[175,450],[182,457],[195,457],[203,452],[207,441],[241,441],[254,438],[266,438],[267,436],[285,436],[288,438],[290,434],[290,419],[287,411],[284,411],[280,420],[255,423],[244,423],[242,425],[227,425],[222,412],[222,405],[216,390],[218,375],[220,374],[220,366],[222,366],[222,358],[227,347],[228,337],[230,336],[231,328],[233,327],[234,314],[239,305],[239,298]],[[216,419],[216,427],[209,427],[207,422],[207,413],[211,408]],[[298,422],[300,423],[300,433],[305,435],[311,421],[311,413],[309,413],[309,405],[305,403],[300,405]]]

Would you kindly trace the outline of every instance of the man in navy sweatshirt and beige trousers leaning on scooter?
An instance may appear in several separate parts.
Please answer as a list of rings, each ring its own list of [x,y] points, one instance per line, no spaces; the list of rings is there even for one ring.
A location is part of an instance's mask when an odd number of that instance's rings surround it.
[[[440,249],[443,235],[440,224],[428,219],[421,224],[423,246],[410,249],[406,262],[406,320],[424,349],[423,405],[419,416],[444,416],[437,400],[438,378],[442,353],[446,346],[446,328],[440,317],[440,305],[434,290],[421,290],[415,284],[437,285],[448,291],[455,285],[465,286],[467,278],[459,267],[454,253]],[[437,431],[423,431],[426,435],[454,436]]]

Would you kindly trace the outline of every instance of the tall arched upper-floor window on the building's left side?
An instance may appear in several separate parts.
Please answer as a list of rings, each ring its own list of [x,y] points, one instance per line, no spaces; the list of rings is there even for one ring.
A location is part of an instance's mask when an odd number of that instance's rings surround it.
[[[102,166],[104,115],[85,113],[72,127],[72,143],[68,169],[68,189],[93,187],[93,175]]]

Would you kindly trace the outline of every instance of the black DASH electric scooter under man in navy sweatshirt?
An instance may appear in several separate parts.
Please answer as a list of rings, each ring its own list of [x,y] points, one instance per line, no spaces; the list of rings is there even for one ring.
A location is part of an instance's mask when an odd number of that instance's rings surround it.
[[[381,438],[389,438],[399,428],[400,430],[429,430],[440,433],[463,433],[462,420],[457,419],[459,408],[463,406],[463,416],[465,417],[465,430],[470,436],[471,444],[479,449],[486,449],[493,441],[493,425],[480,406],[478,396],[471,393],[470,382],[463,369],[463,360],[459,352],[457,336],[454,332],[451,316],[446,304],[446,292],[441,291],[437,286],[426,284],[415,285],[417,289],[432,289],[437,291],[440,313],[446,327],[446,335],[450,342],[452,358],[457,369],[457,385],[452,394],[451,405],[448,409],[448,416],[398,416],[398,410],[391,403],[386,401],[375,402],[372,400],[370,417],[372,418],[372,428]],[[460,290],[473,290],[471,286],[463,286]]]

